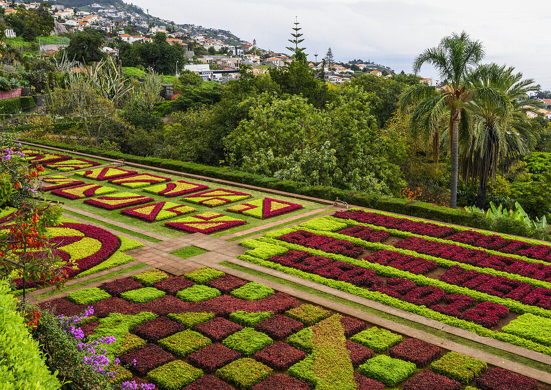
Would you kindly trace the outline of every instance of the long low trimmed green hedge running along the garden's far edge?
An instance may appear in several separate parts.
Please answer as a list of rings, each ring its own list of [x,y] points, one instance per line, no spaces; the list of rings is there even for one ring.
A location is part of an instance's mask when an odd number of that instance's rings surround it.
[[[103,151],[94,148],[82,147],[79,145],[67,145],[66,143],[48,142],[29,138],[24,139],[24,141],[71,151],[95,154],[97,156],[112,159],[124,159],[127,162],[203,175],[210,178],[229,180],[234,181],[235,183],[255,185],[273,190],[286,191],[292,194],[317,197],[320,199],[334,200],[338,197],[339,199],[347,201],[350,205],[369,207],[371,209],[396,212],[415,217],[429,218],[435,221],[455,223],[457,225],[476,228],[493,228],[493,226],[490,225],[490,222],[488,222],[483,216],[469,214],[461,209],[450,209],[449,207],[435,206],[425,202],[394,198],[381,199],[375,194],[358,193],[356,191],[343,190],[321,185],[309,185],[307,183],[291,180],[281,181],[276,178],[268,178],[261,175],[241,172],[228,167],[210,167],[209,165],[170,160],[166,158],[134,156],[133,154]],[[507,226],[503,227],[505,228],[504,230],[507,230]],[[502,232],[514,234],[509,231],[502,230]],[[515,233],[518,232],[515,231]]]

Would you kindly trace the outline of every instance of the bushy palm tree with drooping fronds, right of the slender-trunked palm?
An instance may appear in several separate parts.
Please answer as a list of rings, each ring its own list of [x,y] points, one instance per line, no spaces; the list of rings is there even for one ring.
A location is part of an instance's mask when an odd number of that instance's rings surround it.
[[[490,101],[471,101],[470,137],[461,145],[461,177],[466,184],[478,181],[477,207],[484,209],[488,180],[493,182],[499,165],[510,165],[526,156],[534,143],[534,129],[526,115],[528,93],[538,90],[533,79],[522,79],[514,67],[481,65],[468,75],[472,88],[495,88],[510,100],[502,111]]]

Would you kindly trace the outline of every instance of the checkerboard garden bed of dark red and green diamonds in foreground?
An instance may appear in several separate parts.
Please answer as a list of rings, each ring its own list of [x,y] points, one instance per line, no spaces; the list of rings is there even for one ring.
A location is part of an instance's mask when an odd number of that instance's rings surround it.
[[[72,332],[82,330],[80,342],[100,341],[109,359],[102,368],[115,372],[110,380],[115,386],[129,381],[161,390],[498,390],[507,383],[518,390],[549,388],[209,268],[181,277],[150,270],[40,307],[56,316],[80,316]]]

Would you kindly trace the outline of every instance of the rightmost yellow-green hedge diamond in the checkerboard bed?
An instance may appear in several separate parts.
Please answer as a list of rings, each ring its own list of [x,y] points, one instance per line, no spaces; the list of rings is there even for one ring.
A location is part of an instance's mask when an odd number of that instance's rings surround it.
[[[463,384],[471,382],[488,368],[486,362],[474,357],[448,352],[430,365],[431,370]]]

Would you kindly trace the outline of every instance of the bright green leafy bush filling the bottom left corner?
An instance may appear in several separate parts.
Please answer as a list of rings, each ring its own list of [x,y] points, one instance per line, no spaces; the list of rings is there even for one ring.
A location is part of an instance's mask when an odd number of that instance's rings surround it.
[[[0,281],[0,388],[55,390],[61,387],[48,370],[39,343],[29,334],[25,320],[17,312],[17,300],[9,285]]]

